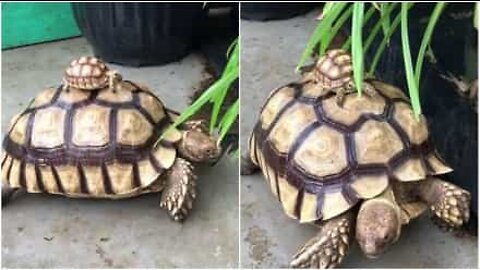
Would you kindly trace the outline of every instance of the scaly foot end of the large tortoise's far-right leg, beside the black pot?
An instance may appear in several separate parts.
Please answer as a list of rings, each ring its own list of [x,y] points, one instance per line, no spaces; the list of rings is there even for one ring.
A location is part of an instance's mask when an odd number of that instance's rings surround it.
[[[467,191],[445,182],[442,183],[441,196],[431,209],[446,225],[458,228],[470,218],[469,205],[470,194]]]

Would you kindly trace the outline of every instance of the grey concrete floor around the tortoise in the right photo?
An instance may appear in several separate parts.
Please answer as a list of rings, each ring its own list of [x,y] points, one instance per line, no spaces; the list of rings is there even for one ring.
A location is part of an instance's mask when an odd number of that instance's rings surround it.
[[[260,106],[270,90],[298,78],[295,65],[315,27],[318,11],[284,21],[241,21],[241,147],[246,149]],[[241,266],[287,267],[316,230],[288,218],[260,174],[241,178]],[[476,268],[477,239],[443,233],[428,215],[403,228],[389,252],[376,261],[353,246],[342,267]]]

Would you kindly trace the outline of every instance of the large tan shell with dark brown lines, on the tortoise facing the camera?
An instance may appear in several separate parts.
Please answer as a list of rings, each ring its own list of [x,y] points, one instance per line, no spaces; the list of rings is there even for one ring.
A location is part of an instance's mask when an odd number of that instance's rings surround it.
[[[370,83],[378,95],[348,95],[343,108],[312,81],[268,97],[249,140],[250,156],[288,216],[327,220],[391,183],[451,171],[402,91]]]

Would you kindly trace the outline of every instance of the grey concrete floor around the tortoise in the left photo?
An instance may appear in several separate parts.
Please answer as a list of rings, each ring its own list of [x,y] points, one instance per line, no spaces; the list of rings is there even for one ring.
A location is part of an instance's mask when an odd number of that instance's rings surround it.
[[[83,38],[3,52],[2,132],[42,88],[60,83],[72,58],[91,55]],[[204,79],[191,54],[161,67],[114,66],[151,86],[170,107],[187,106]],[[2,136],[3,137],[3,136]],[[238,160],[199,168],[199,196],[183,224],[159,209],[159,195],[75,200],[27,194],[2,208],[5,268],[204,268],[238,264]]]

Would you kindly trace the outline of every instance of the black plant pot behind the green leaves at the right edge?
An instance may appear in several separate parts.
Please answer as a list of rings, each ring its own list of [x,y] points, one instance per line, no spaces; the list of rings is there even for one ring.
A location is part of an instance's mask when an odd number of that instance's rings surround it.
[[[409,37],[414,61],[428,22],[426,18],[433,6],[420,4],[409,15]],[[473,9],[473,3],[451,3],[444,10],[431,41],[437,62],[424,62],[420,100],[431,138],[440,156],[454,169],[446,175],[447,179],[471,192],[471,207],[478,214],[478,114],[472,103],[460,97],[455,86],[440,76],[451,72],[457,76],[477,78],[477,31],[473,27],[472,17],[466,16],[472,14]],[[379,40],[374,42],[372,48],[378,44]],[[370,50],[367,54],[367,67],[374,53],[374,50]],[[379,61],[376,76],[406,91],[403,61],[400,33],[397,32]],[[476,224],[476,220],[472,222]]]

